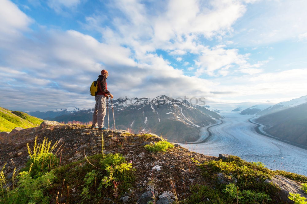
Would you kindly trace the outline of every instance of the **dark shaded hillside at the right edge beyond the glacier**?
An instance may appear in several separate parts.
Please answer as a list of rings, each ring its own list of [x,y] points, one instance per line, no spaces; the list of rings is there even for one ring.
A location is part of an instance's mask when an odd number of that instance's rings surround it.
[[[263,115],[256,120],[274,137],[307,146],[307,103]]]

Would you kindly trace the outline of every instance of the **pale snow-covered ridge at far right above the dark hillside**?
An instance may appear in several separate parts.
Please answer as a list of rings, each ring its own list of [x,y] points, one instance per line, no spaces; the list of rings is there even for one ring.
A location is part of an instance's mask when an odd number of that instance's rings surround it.
[[[274,113],[277,111],[285,110],[287,108],[295,107],[297,105],[305,104],[307,103],[307,95],[301,96],[300,98],[295,98],[289,101],[280,102],[278,104],[272,105],[261,112],[259,112],[257,115],[266,115],[269,113]]]

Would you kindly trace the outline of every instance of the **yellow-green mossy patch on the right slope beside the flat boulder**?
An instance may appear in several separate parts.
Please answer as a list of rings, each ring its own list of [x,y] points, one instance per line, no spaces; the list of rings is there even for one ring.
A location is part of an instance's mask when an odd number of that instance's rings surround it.
[[[276,172],[265,167],[261,162],[247,162],[240,157],[230,156],[227,161],[208,161],[200,165],[202,175],[214,191],[222,192],[219,198],[226,203],[236,202],[237,199],[227,193],[227,184],[233,183],[241,193],[239,203],[250,203],[250,197],[257,197],[253,203],[279,203],[278,187],[271,183],[265,183],[266,179],[272,178]],[[223,181],[218,176],[223,173]],[[229,188],[229,187],[228,187]],[[201,195],[198,195],[201,196]],[[203,196],[206,196],[205,194]],[[272,202],[272,201],[273,202]]]

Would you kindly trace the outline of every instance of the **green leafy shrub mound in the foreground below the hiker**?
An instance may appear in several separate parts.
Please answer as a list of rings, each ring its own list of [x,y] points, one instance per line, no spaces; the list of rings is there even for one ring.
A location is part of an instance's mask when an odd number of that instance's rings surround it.
[[[104,197],[118,198],[135,181],[132,162],[127,162],[120,153],[93,155],[86,160],[72,162],[56,168],[56,187],[61,192],[63,180],[66,185],[79,192],[84,203],[103,203]],[[70,200],[79,202],[75,197]]]

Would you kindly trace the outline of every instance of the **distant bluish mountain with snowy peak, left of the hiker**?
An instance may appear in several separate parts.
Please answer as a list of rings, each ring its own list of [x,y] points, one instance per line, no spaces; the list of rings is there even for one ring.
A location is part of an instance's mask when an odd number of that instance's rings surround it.
[[[41,111],[29,111],[28,114],[35,116],[37,118],[41,118],[44,120],[48,120],[60,115],[68,115],[80,110],[83,110],[84,108],[78,108],[78,107],[68,107],[68,108],[60,108],[60,109],[54,109],[54,110],[49,110],[46,112],[41,112]]]

